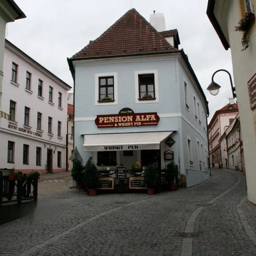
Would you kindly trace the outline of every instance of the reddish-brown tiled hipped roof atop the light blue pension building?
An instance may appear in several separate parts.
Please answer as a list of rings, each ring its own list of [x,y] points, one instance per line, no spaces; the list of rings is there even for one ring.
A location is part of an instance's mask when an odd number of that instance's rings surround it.
[[[90,59],[127,55],[168,53],[172,47],[135,9],[131,9],[110,28],[70,58]]]

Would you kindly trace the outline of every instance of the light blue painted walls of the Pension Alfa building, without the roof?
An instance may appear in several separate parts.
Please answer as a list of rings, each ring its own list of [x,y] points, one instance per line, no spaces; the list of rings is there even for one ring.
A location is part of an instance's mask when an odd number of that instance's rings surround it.
[[[90,156],[94,160],[96,157],[95,152],[84,152],[84,134],[113,134],[114,137],[116,133],[173,131],[171,137],[176,143],[171,148],[164,141],[160,144],[161,166],[164,167],[169,163],[168,160],[164,160],[163,152],[170,149],[174,151],[174,161],[178,164],[180,173],[187,176],[187,186],[194,186],[209,177],[207,106],[195,79],[180,54],[109,58],[101,61],[74,61],[73,66],[75,69],[74,145],[83,158],[83,164]],[[138,79],[138,73],[142,71],[156,72],[155,86],[158,91],[156,100],[137,101],[136,79]],[[117,95],[115,95],[117,104],[114,102],[111,103],[112,105],[101,105],[96,101],[98,97],[96,95],[97,74],[108,73],[115,74],[116,84],[114,86],[117,87]],[[189,108],[186,108],[184,81],[187,84]],[[197,115],[197,119],[195,118],[194,96],[197,111],[199,103],[201,124],[199,116]],[[97,128],[94,121],[97,115],[118,114],[122,108],[131,108],[134,113],[157,112],[160,121],[157,126]],[[193,163],[189,162],[188,137],[191,139]],[[199,150],[199,154],[197,141],[199,141],[200,148],[203,148],[203,152],[200,153]],[[119,157],[119,163],[130,168],[136,160],[139,160],[140,153],[136,152],[133,157],[123,159],[122,151],[119,151],[117,157]]]

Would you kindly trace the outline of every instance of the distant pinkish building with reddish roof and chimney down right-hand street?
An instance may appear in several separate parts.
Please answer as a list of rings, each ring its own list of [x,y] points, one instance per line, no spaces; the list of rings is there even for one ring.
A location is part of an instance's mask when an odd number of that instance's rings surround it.
[[[223,162],[223,155],[221,154],[221,136],[224,131],[230,126],[234,118],[238,114],[238,107],[233,98],[230,98],[230,103],[223,108],[217,110],[212,116],[208,125],[208,140],[209,140],[209,157],[212,167],[218,167],[218,163]]]

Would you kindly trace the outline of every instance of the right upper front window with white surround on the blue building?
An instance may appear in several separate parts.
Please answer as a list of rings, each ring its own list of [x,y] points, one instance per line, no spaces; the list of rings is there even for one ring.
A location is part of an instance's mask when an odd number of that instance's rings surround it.
[[[135,103],[159,102],[157,70],[135,71]]]

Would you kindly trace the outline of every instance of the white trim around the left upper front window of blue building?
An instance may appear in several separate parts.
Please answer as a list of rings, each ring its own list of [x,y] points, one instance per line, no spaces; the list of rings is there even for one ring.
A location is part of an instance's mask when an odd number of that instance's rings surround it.
[[[99,77],[100,76],[113,76],[114,77],[114,102],[98,102],[99,100]],[[109,73],[96,73],[95,74],[95,106],[104,105],[117,105],[118,104],[118,94],[117,94],[117,72]]]

